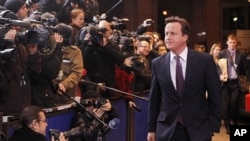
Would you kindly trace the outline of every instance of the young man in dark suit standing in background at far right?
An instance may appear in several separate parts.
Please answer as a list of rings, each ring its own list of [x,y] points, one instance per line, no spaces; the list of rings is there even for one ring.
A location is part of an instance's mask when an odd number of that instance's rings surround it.
[[[237,49],[237,37],[230,34],[227,37],[227,48],[222,50],[219,58],[227,59],[227,81],[222,85],[222,114],[227,134],[230,133],[230,124],[237,125],[240,110],[240,86],[238,75],[244,75],[245,55]]]

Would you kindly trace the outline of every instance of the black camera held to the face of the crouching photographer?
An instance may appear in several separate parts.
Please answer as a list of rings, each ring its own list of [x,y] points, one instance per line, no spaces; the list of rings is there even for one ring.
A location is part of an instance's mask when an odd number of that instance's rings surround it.
[[[100,108],[102,105],[106,104],[107,102],[108,102],[107,99],[101,99],[101,98],[81,100],[81,104],[83,106],[86,106],[86,107],[93,106],[95,108]]]

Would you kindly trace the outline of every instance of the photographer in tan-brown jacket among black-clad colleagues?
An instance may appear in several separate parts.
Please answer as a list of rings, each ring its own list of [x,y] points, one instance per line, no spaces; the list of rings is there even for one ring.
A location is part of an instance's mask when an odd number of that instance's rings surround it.
[[[66,92],[71,97],[75,97],[83,71],[82,52],[77,46],[72,45],[73,28],[71,26],[59,23],[56,25],[56,29],[63,37],[63,60],[59,75],[54,79],[54,83],[58,85],[59,90]],[[70,102],[68,98],[63,96],[60,96],[58,100],[62,104]]]

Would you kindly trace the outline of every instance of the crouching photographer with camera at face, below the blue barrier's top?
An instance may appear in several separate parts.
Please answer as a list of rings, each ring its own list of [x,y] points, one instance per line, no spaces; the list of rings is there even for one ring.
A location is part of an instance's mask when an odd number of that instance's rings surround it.
[[[98,139],[104,141],[103,137],[109,131],[108,127],[104,126],[96,118],[108,124],[112,119],[118,117],[116,109],[112,107],[108,99],[103,99],[100,93],[95,90],[84,93],[81,104],[86,109],[78,107],[78,111],[72,119],[72,128],[80,127],[81,133],[72,136],[70,141],[97,141]]]

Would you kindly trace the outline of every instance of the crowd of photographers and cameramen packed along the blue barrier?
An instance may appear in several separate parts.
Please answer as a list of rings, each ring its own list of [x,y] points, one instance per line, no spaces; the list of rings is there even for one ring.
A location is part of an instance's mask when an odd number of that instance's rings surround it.
[[[147,93],[151,60],[167,51],[160,35],[147,31],[152,19],[128,31],[128,19],[107,21],[107,15],[98,16],[96,0],[1,0],[0,4],[0,111],[20,116],[27,106],[56,107],[72,103],[68,96],[80,95],[80,105],[87,108],[76,108],[72,127],[80,127],[77,131],[82,134],[71,140],[91,136],[95,141],[100,132],[104,136],[108,130],[103,123],[118,118],[111,99],[122,97],[129,107],[136,107],[130,95],[105,86]]]

